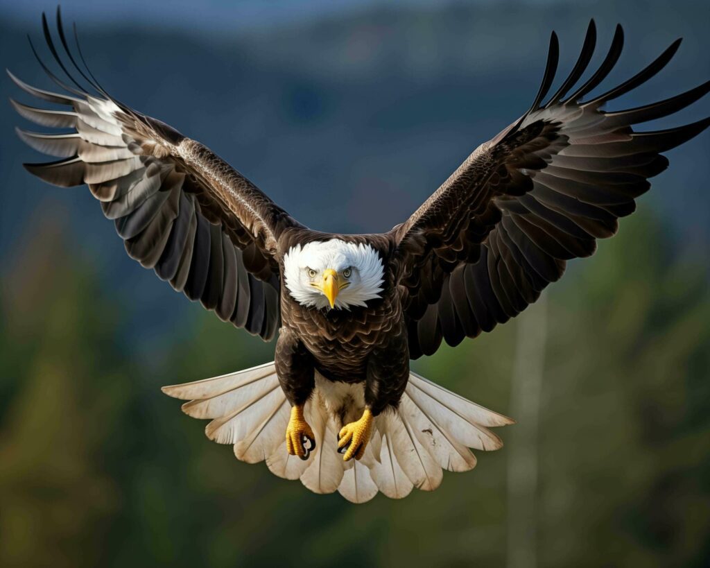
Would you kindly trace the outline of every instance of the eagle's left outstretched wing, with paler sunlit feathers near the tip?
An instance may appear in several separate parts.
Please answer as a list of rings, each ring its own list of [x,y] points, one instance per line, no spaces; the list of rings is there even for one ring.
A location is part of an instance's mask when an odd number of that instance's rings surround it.
[[[273,252],[281,231],[300,225],[208,148],[111,98],[88,69],[87,77],[77,65],[59,11],[57,18],[65,59],[96,93],[89,94],[70,75],[43,14],[49,50],[75,87],[39,57],[50,78],[69,94],[36,89],[9,73],[29,94],[65,106],[38,109],[11,101],[24,118],[65,129],[51,134],[18,129],[29,146],[60,158],[25,167],[54,185],[86,183],[104,215],[114,219],[132,258],[221,320],[271,339],[280,321]],[[78,55],[84,62],[80,50]]]

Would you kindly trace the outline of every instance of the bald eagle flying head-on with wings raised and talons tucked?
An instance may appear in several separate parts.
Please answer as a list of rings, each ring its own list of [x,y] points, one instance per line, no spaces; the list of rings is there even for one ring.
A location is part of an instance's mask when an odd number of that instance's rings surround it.
[[[356,503],[378,491],[401,498],[413,487],[433,490],[442,469],[476,465],[471,448],[501,447],[490,427],[513,420],[418,376],[410,359],[525,310],[568,260],[590,256],[596,239],[616,233],[648,178],[667,167],[660,153],[710,124],[632,128],[687,107],[710,82],[603,111],[659,72],[680,40],[588,98],[623,44],[617,26],[606,58],[579,85],[596,45],[591,21],[557,91],[547,98],[559,51],[553,32],[530,109],[476,148],[409,219],[383,234],[326,234],[290,217],[201,143],[111,97],[78,41],[69,47],[59,11],[57,20],[58,41],[44,15],[43,31],[66,78],[38,60],[64,92],[10,77],[68,108],[11,104],[25,119],[71,132],[18,130],[59,158],[27,170],[62,187],[88,185],[129,256],[224,322],[266,341],[278,334],[271,363],[163,391],[189,400],[188,415],[210,419],[207,436],[234,445],[238,459],[266,460],[278,476]]]

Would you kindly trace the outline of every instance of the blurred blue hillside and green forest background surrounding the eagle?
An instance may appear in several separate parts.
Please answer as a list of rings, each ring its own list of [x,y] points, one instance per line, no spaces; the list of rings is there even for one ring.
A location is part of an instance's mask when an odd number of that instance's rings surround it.
[[[1,65],[53,85],[25,34],[55,4],[0,3]],[[614,109],[710,78],[710,4],[65,1],[109,92],[196,138],[304,224],[386,231],[617,21]],[[41,42],[40,42],[41,43]],[[29,102],[0,78],[2,97]],[[601,92],[601,91],[600,91]],[[704,100],[648,130],[709,114]],[[517,320],[413,368],[518,419],[433,493],[353,506],[209,442],[160,386],[273,359],[133,263],[84,188],[0,106],[1,566],[706,566],[710,557],[710,136],[668,153],[618,236]],[[376,207],[373,207],[376,203]]]

